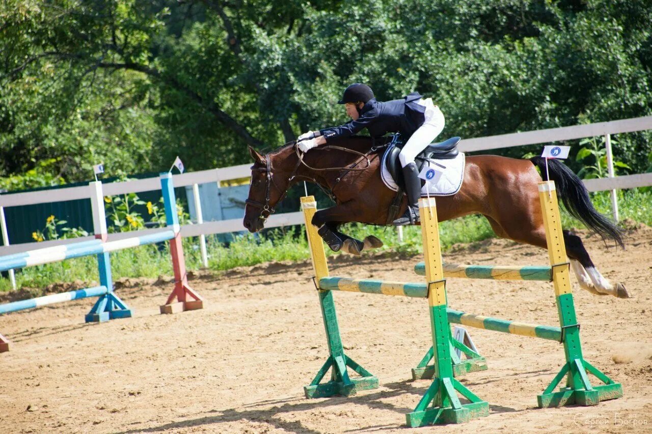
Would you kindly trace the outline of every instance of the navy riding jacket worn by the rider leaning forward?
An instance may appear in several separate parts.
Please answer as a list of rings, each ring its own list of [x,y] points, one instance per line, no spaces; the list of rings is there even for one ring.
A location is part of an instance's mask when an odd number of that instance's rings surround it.
[[[370,99],[360,111],[360,117],[349,121],[342,126],[324,128],[319,130],[326,137],[326,143],[337,137],[348,137],[357,134],[363,128],[369,131],[372,137],[384,136],[388,132],[398,132],[402,139],[409,137],[424,123],[426,108],[419,104],[423,98],[419,93],[413,92],[400,100],[387,102]]]

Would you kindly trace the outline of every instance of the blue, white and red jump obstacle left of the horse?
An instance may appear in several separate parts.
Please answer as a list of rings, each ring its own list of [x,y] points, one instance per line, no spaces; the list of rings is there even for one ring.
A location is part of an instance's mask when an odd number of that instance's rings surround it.
[[[111,281],[111,262],[109,253],[116,250],[153,244],[156,242],[170,241],[170,254],[172,257],[172,268],[175,276],[175,287],[168,297],[166,304],[160,306],[161,313],[177,313],[184,310],[195,310],[203,307],[203,298],[200,297],[188,285],[186,276],[185,258],[181,246],[181,233],[179,217],[176,212],[176,199],[170,173],[160,174],[160,186],[163,193],[166,222],[168,230],[156,232],[141,237],[107,242],[108,233],[106,230],[106,215],[104,213],[104,194],[102,183],[99,181],[90,182],[91,208],[93,209],[93,227],[95,228],[95,240],[72,242],[61,246],[47,247],[37,250],[29,250],[22,253],[14,253],[0,257],[0,271],[12,268],[33,267],[74,257],[96,255],[100,285],[92,288],[79,289],[68,293],[47,295],[45,297],[32,298],[17,302],[0,304],[0,314],[12,311],[25,310],[53,304],[76,300],[78,298],[99,297],[95,305],[85,316],[85,321],[102,322],[114,318],[125,318],[132,316],[132,310],[128,308],[115,293]],[[0,335],[0,352],[8,351],[9,341]]]

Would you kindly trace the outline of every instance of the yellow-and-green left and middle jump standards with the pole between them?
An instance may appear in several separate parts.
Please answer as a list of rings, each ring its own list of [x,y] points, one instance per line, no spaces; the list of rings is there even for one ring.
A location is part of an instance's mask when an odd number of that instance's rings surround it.
[[[316,228],[310,224],[312,216],[316,212],[315,199],[313,196],[301,198],[301,206],[306,220],[308,244],[315,272],[315,283],[318,287],[319,302],[330,353],[329,358],[319,369],[315,379],[304,388],[306,398],[324,398],[336,394],[349,396],[359,390],[378,387],[378,379],[374,375],[344,354],[332,291],[402,295],[404,297],[428,298],[432,344],[436,349],[434,364],[436,378],[421,401],[419,401],[415,411],[406,415],[408,425],[417,427],[431,424],[461,423],[475,417],[488,416],[488,403],[475,396],[473,392],[453,377],[451,354],[454,354],[454,352],[452,351],[451,329],[447,316],[445,281],[443,280],[443,268],[441,267],[435,201],[434,199],[421,199],[419,205],[422,215],[421,227],[424,253],[428,264],[428,267],[426,267],[426,283],[378,282],[372,280],[352,282],[353,280],[329,278],[321,237],[319,237]],[[424,217],[424,215],[428,215],[428,217]],[[466,349],[466,347],[464,348]],[[479,356],[479,354],[475,355]],[[350,378],[347,366],[361,377]],[[331,380],[320,384],[321,379],[330,368],[332,368]],[[468,399],[469,403],[460,403],[457,392],[460,392],[464,398]]]

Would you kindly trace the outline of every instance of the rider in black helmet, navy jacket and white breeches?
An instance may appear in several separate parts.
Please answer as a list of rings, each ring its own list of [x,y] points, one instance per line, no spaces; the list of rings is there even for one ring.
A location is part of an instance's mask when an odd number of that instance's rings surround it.
[[[408,209],[394,220],[394,225],[407,225],[419,222],[421,179],[415,164],[415,157],[439,136],[444,128],[444,115],[439,107],[432,104],[431,98],[423,98],[419,93],[411,93],[400,100],[376,101],[374,91],[365,84],[354,83],[346,88],[342,100],[346,114],[352,119],[342,126],[309,131],[299,136],[299,149],[310,149],[329,143],[336,137],[348,137],[367,128],[374,136],[388,132],[399,132],[406,144],[398,158],[403,167],[403,175],[408,194]]]

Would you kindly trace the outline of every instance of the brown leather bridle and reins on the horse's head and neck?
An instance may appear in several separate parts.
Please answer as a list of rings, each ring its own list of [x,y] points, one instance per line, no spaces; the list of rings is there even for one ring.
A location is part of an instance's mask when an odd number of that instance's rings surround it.
[[[289,145],[290,143],[292,143],[292,142],[288,142],[288,143],[286,143],[286,145]],[[295,179],[295,177],[297,177],[297,171],[299,170],[299,167],[302,164],[303,164],[303,166],[307,167],[308,169],[310,169],[312,171],[316,171],[316,172],[339,170],[339,171],[346,171],[346,173],[348,173],[349,171],[363,171],[363,170],[366,170],[369,167],[371,167],[371,162],[369,161],[369,154],[371,154],[372,152],[376,152],[378,149],[380,149],[382,147],[387,146],[387,145],[383,145],[381,147],[372,146],[371,149],[366,154],[364,154],[363,152],[355,151],[353,149],[347,149],[347,148],[343,148],[343,147],[340,147],[340,146],[333,146],[333,145],[316,147],[315,149],[319,149],[321,151],[328,151],[329,149],[334,149],[336,151],[349,152],[351,154],[357,154],[357,155],[360,156],[360,158],[358,158],[357,160],[355,160],[355,162],[353,162],[351,165],[349,165],[349,166],[352,166],[352,167],[348,167],[348,166],[346,166],[346,167],[325,167],[323,169],[318,169],[316,167],[308,166],[308,164],[306,164],[306,162],[303,161],[303,156],[306,154],[306,152],[301,152],[301,150],[299,149],[298,144],[299,144],[299,141],[294,141],[293,147],[294,147],[295,152],[297,153],[298,160],[297,160],[296,166],[294,166],[294,170],[292,171],[292,175],[290,175],[290,177],[288,178],[288,186],[289,186],[289,181],[292,181],[293,179]],[[363,160],[366,160],[366,166],[365,167],[355,167]],[[272,167],[272,162],[271,162],[271,160],[269,158],[269,154],[265,154],[265,167],[256,167],[256,164],[254,164],[254,166],[251,166],[251,169],[265,172],[265,179],[266,179],[265,180],[265,203],[261,203],[259,201],[254,201],[254,199],[248,199],[248,198],[246,199],[246,201],[244,201],[244,203],[246,203],[247,205],[251,205],[252,207],[261,209],[259,218],[263,219],[263,224],[265,224],[265,222],[267,222],[267,218],[269,218],[269,216],[271,216],[271,214],[274,214],[274,212],[276,211],[276,209],[274,209],[274,207],[269,206],[269,202],[270,202],[269,195],[271,193],[272,185],[281,194],[280,198],[278,199],[278,201],[276,201],[276,203],[279,203],[280,201],[282,201],[284,199],[286,194],[288,194],[288,188],[286,188],[285,190],[281,190],[280,188],[278,188],[278,186],[276,186],[276,182],[274,182],[274,173],[273,173],[274,168]],[[345,173],[345,175],[346,175],[346,173]],[[344,175],[342,175],[342,176],[344,176]],[[340,182],[340,180],[342,179],[342,176],[338,177],[335,180],[335,182],[336,183]],[[326,190],[324,190],[323,187],[321,187],[321,185],[319,185],[319,183],[316,182],[316,180],[314,178],[306,177],[304,175],[299,175],[299,177],[306,178],[306,179],[314,182],[315,184],[317,184],[334,201],[333,193],[332,192],[327,192]],[[263,215],[265,213],[267,213],[267,215]]]

